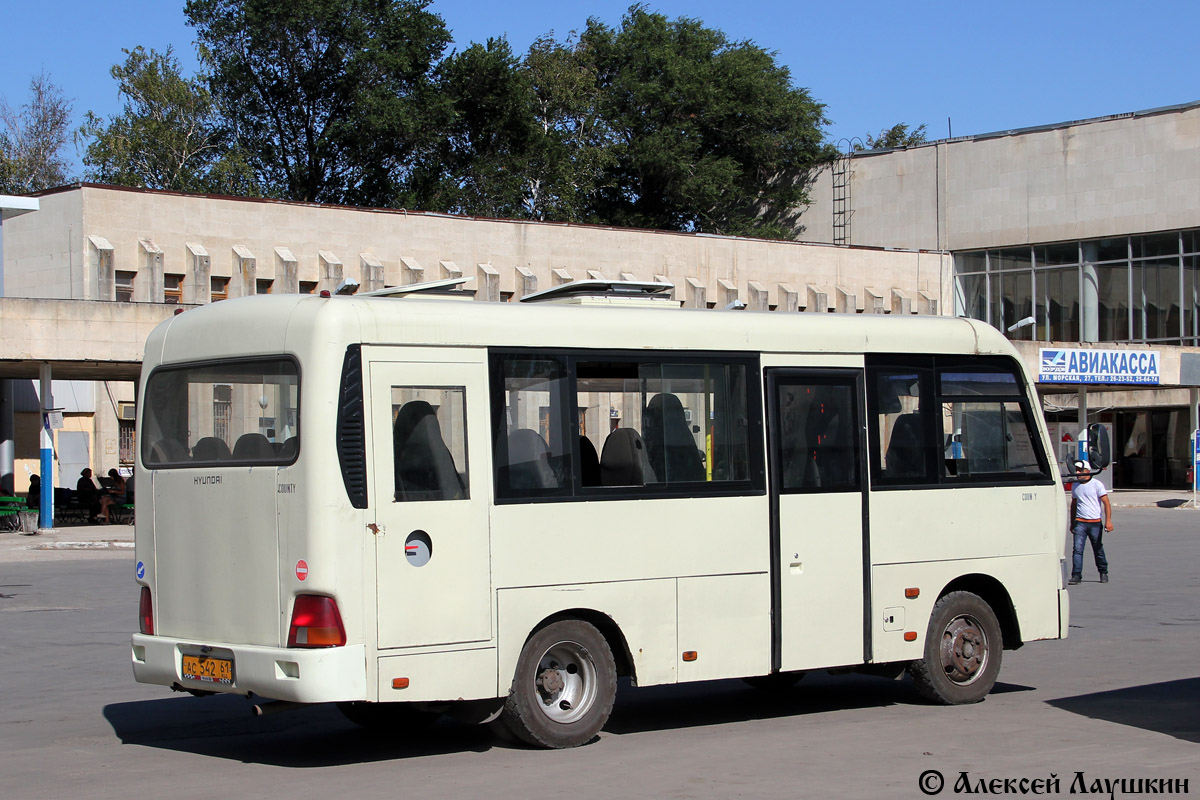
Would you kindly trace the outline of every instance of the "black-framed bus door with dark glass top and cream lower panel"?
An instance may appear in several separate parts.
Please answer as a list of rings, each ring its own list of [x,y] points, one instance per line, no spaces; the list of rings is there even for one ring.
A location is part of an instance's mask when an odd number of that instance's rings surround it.
[[[772,663],[864,663],[865,461],[860,369],[769,369]]]

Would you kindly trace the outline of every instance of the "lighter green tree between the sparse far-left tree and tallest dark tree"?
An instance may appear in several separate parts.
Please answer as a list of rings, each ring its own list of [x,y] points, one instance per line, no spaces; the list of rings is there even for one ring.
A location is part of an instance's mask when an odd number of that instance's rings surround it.
[[[170,48],[125,54],[125,64],[112,68],[124,110],[107,121],[88,112],[79,130],[91,140],[83,158],[86,176],[119,186],[257,194],[212,96],[200,80],[180,74]]]

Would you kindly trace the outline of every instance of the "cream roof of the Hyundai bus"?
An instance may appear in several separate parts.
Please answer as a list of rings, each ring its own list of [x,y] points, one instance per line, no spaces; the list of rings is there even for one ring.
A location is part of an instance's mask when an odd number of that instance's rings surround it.
[[[306,341],[336,343],[340,349],[361,342],[542,349],[1015,354],[1000,331],[966,318],[258,295],[176,314],[150,336],[146,361],[293,353]]]

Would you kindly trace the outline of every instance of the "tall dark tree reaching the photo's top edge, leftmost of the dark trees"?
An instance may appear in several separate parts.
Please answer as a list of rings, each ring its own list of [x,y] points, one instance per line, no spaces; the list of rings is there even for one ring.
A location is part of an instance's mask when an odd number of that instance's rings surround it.
[[[209,85],[257,180],[294,200],[395,205],[428,146],[450,41],[427,0],[188,0]]]

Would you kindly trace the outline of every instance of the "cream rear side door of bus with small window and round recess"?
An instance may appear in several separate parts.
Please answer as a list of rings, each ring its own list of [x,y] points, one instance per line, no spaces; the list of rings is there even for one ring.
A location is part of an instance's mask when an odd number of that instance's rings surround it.
[[[412,357],[412,350],[404,351]],[[491,638],[487,369],[368,360],[379,648]]]

